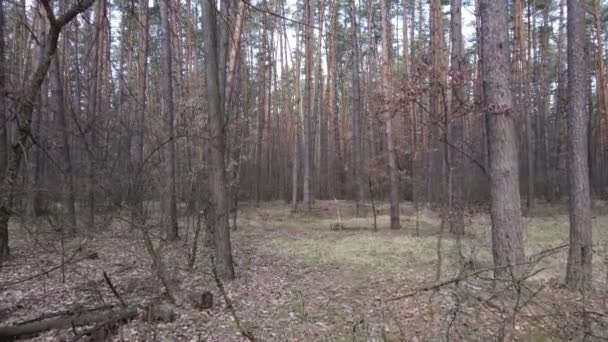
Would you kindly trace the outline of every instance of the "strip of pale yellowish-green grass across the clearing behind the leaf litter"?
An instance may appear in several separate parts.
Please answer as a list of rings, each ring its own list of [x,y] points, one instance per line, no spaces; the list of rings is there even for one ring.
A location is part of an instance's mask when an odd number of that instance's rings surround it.
[[[416,235],[416,215],[411,203],[402,203],[400,231],[390,231],[388,204],[378,204],[378,232],[373,231],[371,209],[364,217],[354,217],[354,204],[345,201],[317,201],[310,213],[292,213],[282,202],[264,203],[260,207],[245,206],[239,224],[248,230],[276,232],[264,246],[269,254],[289,258],[293,262],[312,265],[351,265],[390,270],[407,265],[428,265],[437,258],[437,238],[441,218],[428,208],[418,214],[419,235]],[[596,204],[594,241],[598,242],[595,258],[597,277],[603,277],[603,241],[607,238],[608,215],[604,206]],[[339,222],[344,231],[330,231]],[[489,215],[468,217],[467,236],[462,240],[462,253],[478,267],[492,263],[491,222]],[[568,242],[568,215],[564,206],[539,205],[525,218],[527,255]],[[459,258],[453,237],[444,234],[442,251],[444,265],[456,267]],[[565,251],[565,249],[564,249]],[[545,260],[547,270],[539,279],[563,277],[566,253]],[[452,270],[455,271],[455,270]]]

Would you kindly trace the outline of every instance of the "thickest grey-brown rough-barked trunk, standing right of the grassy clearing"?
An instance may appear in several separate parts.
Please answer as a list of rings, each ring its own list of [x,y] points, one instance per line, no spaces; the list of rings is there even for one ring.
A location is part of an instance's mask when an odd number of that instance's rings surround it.
[[[492,252],[496,267],[524,261],[515,113],[509,84],[507,1],[480,0],[483,108],[490,155]],[[515,270],[517,267],[515,267]],[[508,274],[504,269],[497,276]]]

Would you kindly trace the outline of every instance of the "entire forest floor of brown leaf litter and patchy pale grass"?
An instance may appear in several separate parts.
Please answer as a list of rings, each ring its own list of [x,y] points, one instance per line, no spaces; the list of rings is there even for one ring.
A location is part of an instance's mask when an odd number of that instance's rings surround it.
[[[594,289],[584,295],[563,287],[564,207],[540,205],[526,216],[525,272],[499,282],[490,280],[487,214],[468,213],[467,234],[458,242],[440,234],[440,216],[428,208],[416,215],[411,203],[402,203],[398,231],[388,229],[386,203],[378,205],[377,232],[370,208],[365,211],[355,218],[354,203],[346,201],[317,201],[312,212],[295,214],[283,202],[243,204],[232,232],[237,278],[224,284],[243,328],[260,341],[608,338],[606,204],[594,210]],[[14,222],[12,258],[0,269],[0,329],[48,313],[117,304],[103,272],[141,312],[162,296],[141,232],[117,214],[104,222],[103,229],[69,239],[42,221]],[[331,230],[338,222],[344,229]],[[121,325],[114,340],[246,340],[215,286],[202,243],[194,268],[188,267],[194,221],[181,225],[177,242],[162,241],[158,228],[150,235],[178,295],[209,290],[214,306],[198,310],[178,301],[175,319],[166,322],[144,322],[142,313]],[[91,252],[97,257],[80,257]],[[48,331],[31,340],[72,341],[82,331]]]

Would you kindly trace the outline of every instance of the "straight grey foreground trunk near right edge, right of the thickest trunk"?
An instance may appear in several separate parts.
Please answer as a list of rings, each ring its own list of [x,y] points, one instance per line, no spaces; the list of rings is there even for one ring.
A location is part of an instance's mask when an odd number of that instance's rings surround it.
[[[591,285],[592,231],[589,190],[588,126],[585,96],[585,6],[568,0],[568,165],[570,179],[570,248],[566,284],[572,289]]]

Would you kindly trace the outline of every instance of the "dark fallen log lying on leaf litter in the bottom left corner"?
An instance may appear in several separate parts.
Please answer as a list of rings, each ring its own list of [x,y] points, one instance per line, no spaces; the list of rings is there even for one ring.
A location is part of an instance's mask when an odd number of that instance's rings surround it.
[[[21,337],[37,335],[53,329],[65,329],[84,325],[94,325],[100,322],[128,320],[136,316],[136,308],[126,308],[120,311],[84,312],[37,322],[15,324],[0,328],[0,341],[10,341]]]

